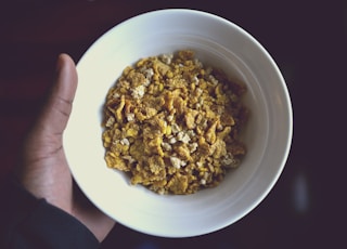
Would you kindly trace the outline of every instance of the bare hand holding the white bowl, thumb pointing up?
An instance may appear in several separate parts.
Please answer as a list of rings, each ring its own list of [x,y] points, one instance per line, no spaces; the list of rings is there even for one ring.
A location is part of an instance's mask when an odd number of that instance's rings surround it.
[[[16,174],[34,196],[74,215],[102,241],[115,222],[86,201],[86,197],[80,201],[63,148],[63,132],[72,112],[77,81],[75,63],[67,54],[61,54],[54,86],[24,144],[23,161]]]

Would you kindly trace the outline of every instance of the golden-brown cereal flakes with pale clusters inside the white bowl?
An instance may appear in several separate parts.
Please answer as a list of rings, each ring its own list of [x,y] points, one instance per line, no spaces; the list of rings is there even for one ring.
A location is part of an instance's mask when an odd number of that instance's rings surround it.
[[[217,186],[246,154],[240,140],[245,91],[192,50],[138,61],[106,96],[107,167],[158,194]]]

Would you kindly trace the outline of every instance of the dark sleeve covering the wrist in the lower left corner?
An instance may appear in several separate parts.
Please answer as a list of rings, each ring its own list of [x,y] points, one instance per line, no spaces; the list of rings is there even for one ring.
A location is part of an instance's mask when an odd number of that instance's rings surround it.
[[[1,184],[0,248],[98,248],[94,235],[61,209],[14,181]]]

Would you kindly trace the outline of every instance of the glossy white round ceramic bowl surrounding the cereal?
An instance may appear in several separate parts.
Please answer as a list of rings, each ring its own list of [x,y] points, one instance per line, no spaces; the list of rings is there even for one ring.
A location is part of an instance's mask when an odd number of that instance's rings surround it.
[[[244,131],[247,155],[215,188],[160,196],[129,184],[108,169],[102,146],[102,108],[123,69],[141,57],[193,49],[203,62],[247,86],[250,108]],[[284,79],[268,52],[245,30],[213,14],[163,10],[132,17],[103,35],[77,65],[79,86],[64,134],[72,173],[103,212],[136,231],[189,237],[226,227],[253,210],[285,165],[292,107]]]

